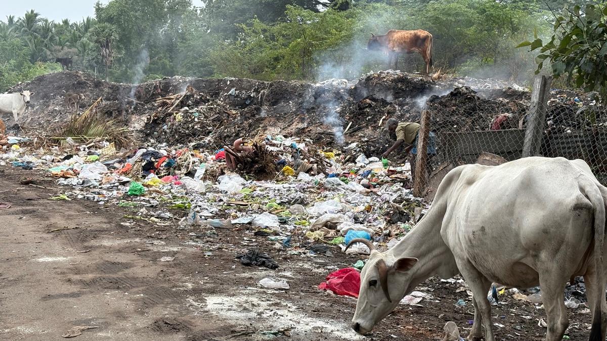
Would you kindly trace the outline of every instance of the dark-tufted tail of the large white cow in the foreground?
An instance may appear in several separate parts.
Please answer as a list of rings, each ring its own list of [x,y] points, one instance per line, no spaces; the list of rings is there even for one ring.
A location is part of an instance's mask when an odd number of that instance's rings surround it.
[[[597,185],[583,186],[586,197],[594,206],[594,262],[597,280],[597,297],[594,311],[592,312],[592,328],[589,341],[603,340],[603,312],[602,306],[605,301],[605,274],[603,273],[603,241],[605,240],[605,200]]]

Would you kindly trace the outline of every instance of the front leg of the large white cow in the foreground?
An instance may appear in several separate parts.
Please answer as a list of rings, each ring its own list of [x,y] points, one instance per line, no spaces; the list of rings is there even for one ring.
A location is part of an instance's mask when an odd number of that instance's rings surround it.
[[[485,327],[485,340],[495,341],[491,324],[491,305],[489,304],[489,300],[487,300],[487,291],[489,291],[489,286],[491,285],[491,283],[489,282],[489,280],[486,279],[486,277],[484,277],[483,274],[478,272],[478,270],[476,270],[476,268],[467,260],[464,260],[463,262],[456,262],[459,268],[459,272],[461,272],[461,275],[464,277],[464,280],[466,280],[466,283],[468,283],[470,290],[472,290],[473,299],[476,301],[476,306],[474,310],[474,323],[480,324],[476,316],[476,310],[478,310],[480,311],[480,316],[483,318],[483,325]],[[480,329],[480,326],[477,326],[476,328]],[[472,332],[473,331],[475,331],[474,325],[472,326]],[[470,335],[472,335],[472,332],[470,332]],[[476,335],[473,335],[472,337],[476,337]]]

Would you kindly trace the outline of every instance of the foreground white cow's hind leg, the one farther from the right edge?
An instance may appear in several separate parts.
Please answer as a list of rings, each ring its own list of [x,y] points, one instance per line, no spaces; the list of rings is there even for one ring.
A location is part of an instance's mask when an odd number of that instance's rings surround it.
[[[546,311],[546,341],[560,341],[565,329],[569,326],[567,308],[565,306],[565,283],[563,271],[558,268],[542,269],[540,271],[541,300]]]

